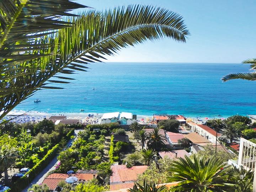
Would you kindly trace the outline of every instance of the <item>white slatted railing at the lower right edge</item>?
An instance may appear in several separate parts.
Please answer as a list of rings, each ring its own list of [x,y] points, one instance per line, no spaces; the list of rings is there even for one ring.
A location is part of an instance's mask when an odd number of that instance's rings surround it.
[[[240,139],[238,165],[242,166],[247,171],[252,169],[255,170],[256,162],[256,144],[246,140]]]

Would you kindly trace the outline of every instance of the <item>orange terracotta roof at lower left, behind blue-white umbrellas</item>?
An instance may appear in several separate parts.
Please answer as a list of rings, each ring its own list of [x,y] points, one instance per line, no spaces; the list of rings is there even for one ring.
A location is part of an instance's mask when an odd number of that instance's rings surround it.
[[[78,178],[78,181],[89,181],[98,176],[97,174],[72,174]],[[66,178],[70,177],[68,174],[50,174],[44,178],[42,184],[46,184],[50,190],[54,190],[60,181],[65,181]]]

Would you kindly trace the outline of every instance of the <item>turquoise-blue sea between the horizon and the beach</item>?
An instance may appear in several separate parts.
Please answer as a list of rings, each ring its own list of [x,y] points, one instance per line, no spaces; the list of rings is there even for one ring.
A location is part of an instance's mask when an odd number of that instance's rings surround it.
[[[222,82],[230,72],[249,65],[212,63],[95,63],[89,72],[67,75],[72,84],[52,84],[63,90],[42,90],[15,110],[48,113],[132,112],[223,117],[255,114],[256,82]],[[63,74],[61,74],[63,75]],[[93,88],[95,87],[95,90]],[[42,102],[34,103],[36,99]],[[86,99],[84,99],[86,98]]]

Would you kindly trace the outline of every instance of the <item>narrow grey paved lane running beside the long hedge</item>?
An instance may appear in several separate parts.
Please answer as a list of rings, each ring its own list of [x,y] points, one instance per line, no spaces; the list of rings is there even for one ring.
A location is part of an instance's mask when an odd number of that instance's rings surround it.
[[[78,132],[80,132],[81,130],[75,130],[75,133],[74,135],[76,136],[78,134]],[[76,139],[76,138],[75,138]],[[69,140],[68,144],[66,144],[66,148],[68,148],[69,144],[72,142],[73,140]],[[22,192],[27,192],[28,188],[30,188],[33,184],[37,183],[42,183],[44,178],[47,176],[47,174],[54,170],[55,169],[55,165],[58,164],[58,160],[57,160],[57,157],[58,157],[59,154],[56,154],[56,156],[53,158],[53,160],[47,165],[47,167],[45,167],[43,169],[43,171],[38,174],[34,179],[33,181],[30,183],[29,186],[27,186],[24,190],[22,190]]]

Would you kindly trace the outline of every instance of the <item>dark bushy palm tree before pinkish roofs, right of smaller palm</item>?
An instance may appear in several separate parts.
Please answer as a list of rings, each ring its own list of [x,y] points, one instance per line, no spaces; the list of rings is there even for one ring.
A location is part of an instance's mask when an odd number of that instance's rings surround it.
[[[159,128],[156,127],[149,134],[148,148],[159,151],[162,147],[165,146],[165,141],[165,135],[162,135]]]

